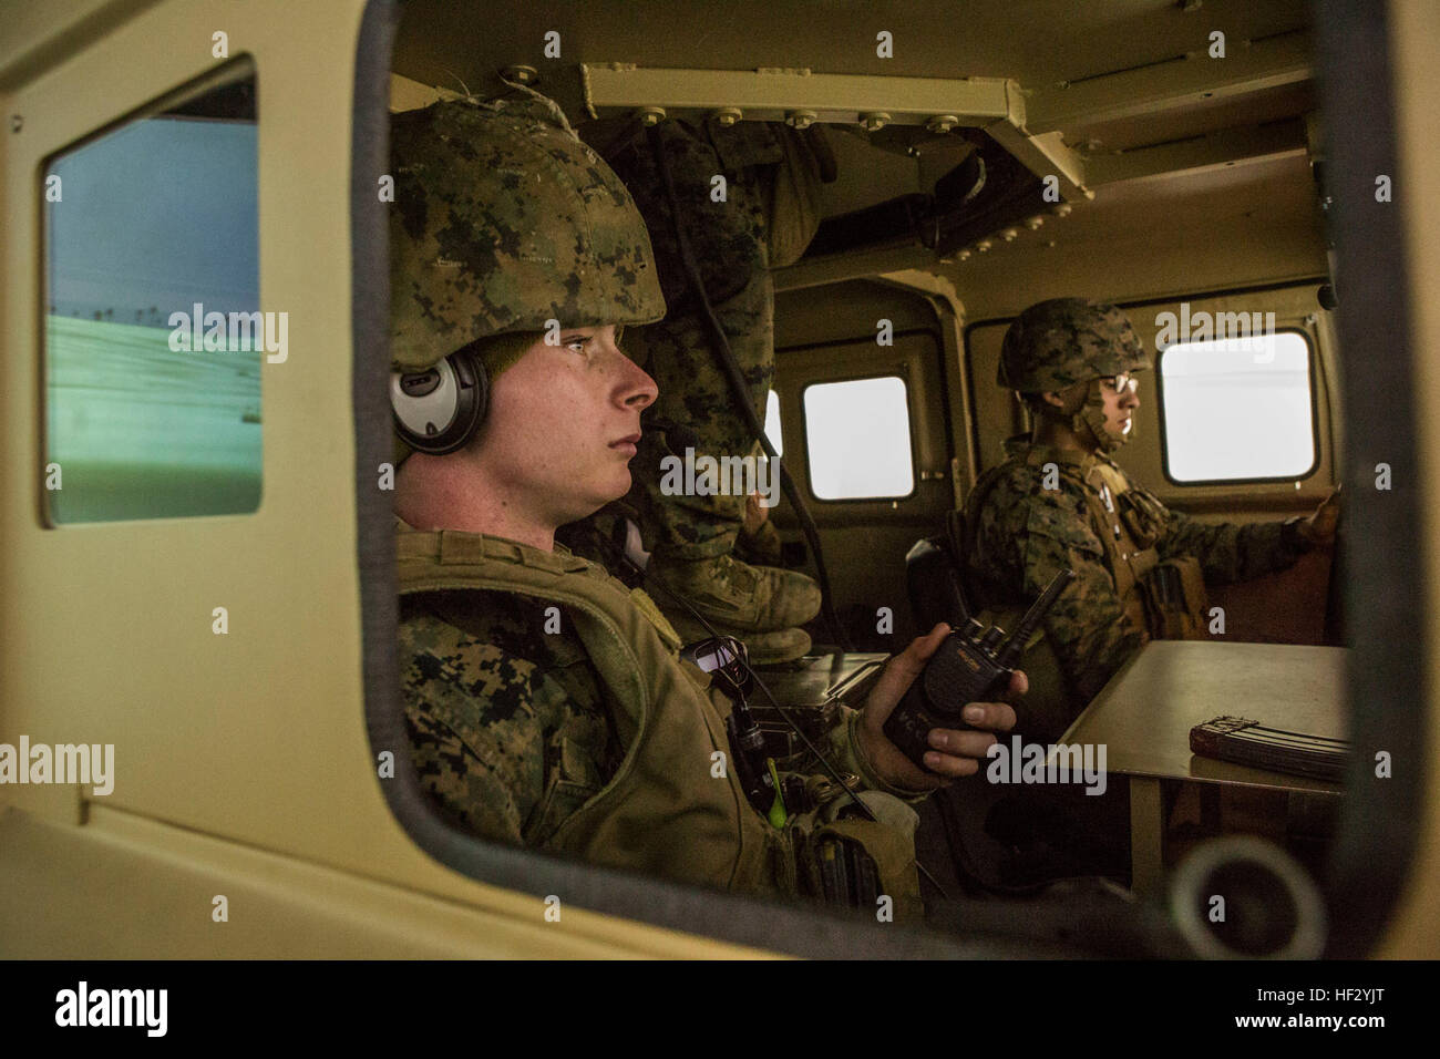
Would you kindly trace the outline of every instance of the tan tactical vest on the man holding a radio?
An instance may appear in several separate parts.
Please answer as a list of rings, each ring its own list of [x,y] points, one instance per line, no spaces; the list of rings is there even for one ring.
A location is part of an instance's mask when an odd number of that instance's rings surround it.
[[[611,781],[543,847],[596,864],[746,893],[818,896],[822,839],[858,841],[874,859],[896,918],[919,912],[913,836],[904,826],[834,818],[838,803],[776,828],[727,768],[729,703],[678,658],[680,637],[655,604],[579,556],[456,530],[399,529],[400,595],[498,589],[564,605],[616,705],[625,758]],[[562,762],[563,768],[563,762]],[[563,777],[560,778],[563,782]],[[881,820],[897,798],[864,792]],[[845,800],[848,801],[848,800]]]

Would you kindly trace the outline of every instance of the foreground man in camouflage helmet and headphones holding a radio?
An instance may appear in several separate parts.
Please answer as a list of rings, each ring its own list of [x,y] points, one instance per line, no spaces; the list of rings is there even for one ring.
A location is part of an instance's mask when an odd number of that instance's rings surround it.
[[[671,624],[554,542],[631,487],[657,393],[619,346],[665,311],[625,187],[530,89],[400,114],[392,153],[399,667],[423,790],[485,839],[744,892],[819,896],[815,850],[851,841],[903,905],[906,801],[973,774],[1011,706],[936,733],[930,771],[884,739],[942,625],[824,741],[876,820],[847,818],[814,762],[752,808],[729,703]]]

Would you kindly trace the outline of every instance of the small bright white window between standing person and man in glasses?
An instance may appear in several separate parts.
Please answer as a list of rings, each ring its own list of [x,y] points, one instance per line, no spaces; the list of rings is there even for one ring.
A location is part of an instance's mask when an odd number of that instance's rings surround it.
[[[819,500],[890,500],[914,491],[904,379],[814,383],[802,399],[811,491]]]

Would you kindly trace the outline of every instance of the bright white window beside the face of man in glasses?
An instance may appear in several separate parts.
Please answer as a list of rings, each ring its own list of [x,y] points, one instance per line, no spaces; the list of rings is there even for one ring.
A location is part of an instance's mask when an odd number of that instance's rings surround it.
[[[1315,382],[1299,331],[1176,341],[1159,357],[1171,481],[1303,478],[1315,470]]]

